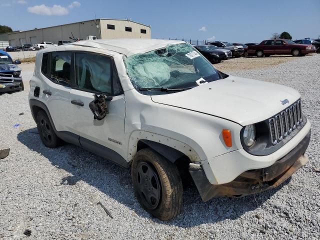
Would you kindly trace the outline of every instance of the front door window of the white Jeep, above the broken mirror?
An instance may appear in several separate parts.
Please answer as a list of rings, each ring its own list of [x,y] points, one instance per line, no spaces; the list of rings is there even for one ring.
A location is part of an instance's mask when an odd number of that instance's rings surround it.
[[[76,86],[83,90],[118,95],[122,88],[112,58],[87,52],[75,53]]]

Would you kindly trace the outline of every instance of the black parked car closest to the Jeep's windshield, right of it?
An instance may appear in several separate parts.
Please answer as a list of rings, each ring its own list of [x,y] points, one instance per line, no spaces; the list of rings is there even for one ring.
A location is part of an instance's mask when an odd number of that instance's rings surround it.
[[[194,47],[211,63],[217,63],[232,56],[230,50],[218,48],[214,45],[196,45]]]

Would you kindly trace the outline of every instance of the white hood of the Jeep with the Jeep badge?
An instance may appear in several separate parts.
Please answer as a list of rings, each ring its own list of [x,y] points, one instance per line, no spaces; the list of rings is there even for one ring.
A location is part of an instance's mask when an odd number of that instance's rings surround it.
[[[299,97],[296,90],[287,86],[229,76],[190,90],[152,95],[151,99],[222,117],[244,126],[273,116]],[[282,105],[281,100],[284,99],[289,103]]]

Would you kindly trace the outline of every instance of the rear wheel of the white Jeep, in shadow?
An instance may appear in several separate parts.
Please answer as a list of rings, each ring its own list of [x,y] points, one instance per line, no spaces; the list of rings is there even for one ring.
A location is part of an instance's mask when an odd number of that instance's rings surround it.
[[[41,141],[46,147],[56,148],[61,145],[61,139],[55,134],[50,120],[43,110],[36,114],[36,127]]]

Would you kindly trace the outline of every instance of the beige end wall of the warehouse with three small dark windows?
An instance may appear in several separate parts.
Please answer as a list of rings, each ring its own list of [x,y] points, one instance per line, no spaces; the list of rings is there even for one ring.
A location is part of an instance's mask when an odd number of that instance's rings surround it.
[[[113,29],[107,29],[107,24],[114,25]],[[125,27],[131,27],[132,31],[125,31]],[[145,29],[146,33],[141,33]],[[151,38],[151,27],[129,20],[100,19],[101,39],[112,38]]]

